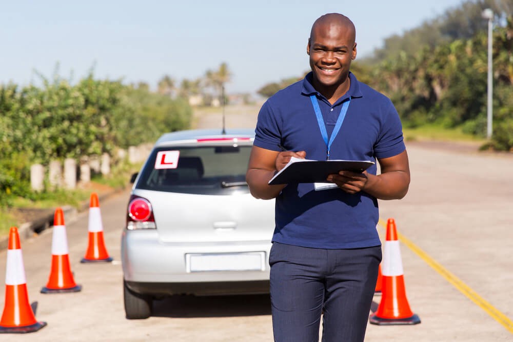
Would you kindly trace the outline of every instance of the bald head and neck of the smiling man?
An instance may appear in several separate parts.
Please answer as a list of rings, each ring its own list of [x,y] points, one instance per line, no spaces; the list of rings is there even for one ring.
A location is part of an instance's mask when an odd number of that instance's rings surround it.
[[[326,14],[313,24],[306,52],[313,86],[328,99],[340,97],[349,89],[349,67],[356,58],[354,40],[354,26],[342,14]]]

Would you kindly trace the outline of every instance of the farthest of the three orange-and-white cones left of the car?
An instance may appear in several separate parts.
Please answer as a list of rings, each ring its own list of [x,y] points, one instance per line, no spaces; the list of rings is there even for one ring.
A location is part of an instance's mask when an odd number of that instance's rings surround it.
[[[81,263],[109,263],[112,258],[107,253],[105,242],[103,239],[103,224],[102,215],[100,212],[100,202],[96,193],[91,194],[89,201],[89,243],[87,246],[86,255]]]

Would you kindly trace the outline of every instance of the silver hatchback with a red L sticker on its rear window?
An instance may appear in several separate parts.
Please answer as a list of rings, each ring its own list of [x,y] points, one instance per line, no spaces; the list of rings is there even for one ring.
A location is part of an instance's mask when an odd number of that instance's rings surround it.
[[[134,182],[121,253],[126,317],[166,295],[269,292],[274,201],[245,182],[254,132],[190,130],[157,140]]]

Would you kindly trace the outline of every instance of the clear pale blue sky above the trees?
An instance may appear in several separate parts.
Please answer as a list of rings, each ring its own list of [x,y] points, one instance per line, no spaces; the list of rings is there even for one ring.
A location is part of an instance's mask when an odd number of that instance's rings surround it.
[[[227,93],[255,93],[309,70],[311,25],[339,12],[356,26],[358,56],[463,0],[0,0],[0,84],[38,84],[57,74],[176,83],[227,63]],[[357,56],[357,59],[358,59]]]

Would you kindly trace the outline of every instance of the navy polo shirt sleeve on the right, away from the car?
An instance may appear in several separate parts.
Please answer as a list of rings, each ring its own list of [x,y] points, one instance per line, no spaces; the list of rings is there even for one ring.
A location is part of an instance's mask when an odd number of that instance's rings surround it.
[[[378,142],[374,146],[377,158],[388,158],[406,150],[403,139],[403,126],[396,108],[388,100],[383,111]]]

